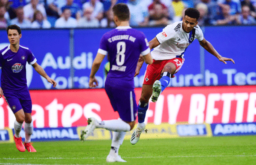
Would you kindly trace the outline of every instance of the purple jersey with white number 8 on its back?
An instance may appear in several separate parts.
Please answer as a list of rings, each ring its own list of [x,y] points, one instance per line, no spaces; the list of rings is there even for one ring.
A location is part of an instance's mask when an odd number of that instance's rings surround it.
[[[143,32],[129,26],[119,26],[104,34],[98,53],[109,56],[106,84],[119,89],[134,89],[134,74],[140,54],[145,56],[149,52]]]

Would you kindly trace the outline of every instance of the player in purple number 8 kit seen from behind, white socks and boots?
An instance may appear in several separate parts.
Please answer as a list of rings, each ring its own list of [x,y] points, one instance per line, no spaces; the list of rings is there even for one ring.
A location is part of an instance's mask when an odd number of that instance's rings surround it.
[[[133,129],[137,114],[134,93],[134,74],[140,54],[147,64],[152,64],[150,50],[145,35],[129,26],[130,11],[125,3],[113,6],[113,20],[117,26],[102,36],[98,53],[93,61],[89,86],[98,86],[96,72],[106,55],[109,56],[110,70],[105,81],[105,91],[119,119],[98,121],[88,118],[88,125],[81,134],[85,140],[96,128],[113,132],[111,150],[107,162],[126,162],[118,150],[126,131]]]

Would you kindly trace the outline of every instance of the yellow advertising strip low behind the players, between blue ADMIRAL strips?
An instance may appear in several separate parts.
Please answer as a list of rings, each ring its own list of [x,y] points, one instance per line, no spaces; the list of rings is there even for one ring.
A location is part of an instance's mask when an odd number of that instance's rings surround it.
[[[134,129],[126,132],[125,139],[129,140],[137,125]],[[77,127],[77,134],[80,138],[81,131],[85,127]],[[212,130],[210,124],[188,124],[178,123],[169,124],[161,123],[155,125],[154,123],[148,123],[145,130],[140,135],[140,139],[169,139],[169,138],[181,138],[181,137],[212,137]],[[112,132],[105,129],[95,129],[93,133],[87,138],[87,140],[111,140]]]

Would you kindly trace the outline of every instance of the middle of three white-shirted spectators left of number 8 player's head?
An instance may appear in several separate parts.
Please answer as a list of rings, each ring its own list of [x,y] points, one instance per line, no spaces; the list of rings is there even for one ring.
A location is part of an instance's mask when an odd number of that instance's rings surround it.
[[[70,9],[64,9],[62,17],[58,18],[55,22],[55,28],[76,28],[76,19],[71,17]]]

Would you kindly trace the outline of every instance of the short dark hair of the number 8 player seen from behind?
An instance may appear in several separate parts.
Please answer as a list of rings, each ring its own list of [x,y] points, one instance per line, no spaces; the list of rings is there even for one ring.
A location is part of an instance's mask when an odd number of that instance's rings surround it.
[[[125,3],[118,3],[112,8],[113,14],[121,21],[128,21],[130,19],[130,11]]]

